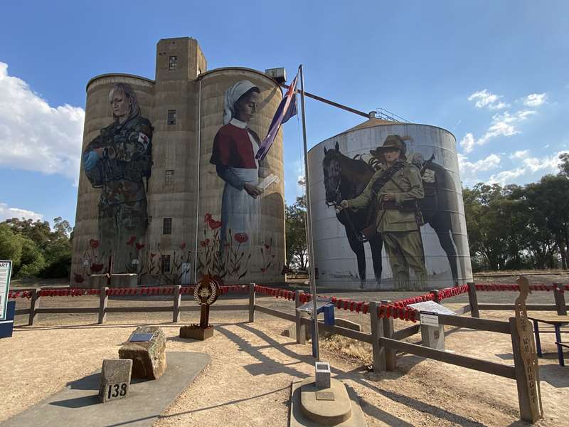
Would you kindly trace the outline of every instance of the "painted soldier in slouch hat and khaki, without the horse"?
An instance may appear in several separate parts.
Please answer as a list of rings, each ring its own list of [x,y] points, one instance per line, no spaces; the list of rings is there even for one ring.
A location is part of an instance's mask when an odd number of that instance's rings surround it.
[[[418,210],[418,201],[425,195],[421,175],[406,162],[405,142],[399,135],[389,135],[376,152],[383,157],[377,172],[359,196],[341,201],[340,206],[357,210],[372,205],[376,216],[366,234],[381,233],[395,289],[410,288],[409,268],[415,272],[413,285],[421,288],[427,279]]]

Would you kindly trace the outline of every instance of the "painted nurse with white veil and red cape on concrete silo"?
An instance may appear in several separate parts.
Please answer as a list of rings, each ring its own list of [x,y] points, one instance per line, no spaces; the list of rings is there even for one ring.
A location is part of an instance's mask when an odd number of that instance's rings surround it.
[[[241,80],[225,92],[223,126],[213,139],[210,162],[225,181],[221,201],[220,252],[230,238],[245,243],[257,230],[260,213],[260,176],[264,161],[255,153],[260,139],[249,122],[257,110],[260,90],[249,80]]]

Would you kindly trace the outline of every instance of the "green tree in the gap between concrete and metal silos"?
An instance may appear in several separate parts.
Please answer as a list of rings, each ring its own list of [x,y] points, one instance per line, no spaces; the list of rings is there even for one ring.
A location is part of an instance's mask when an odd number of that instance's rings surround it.
[[[308,264],[306,206],[306,198],[302,196],[292,206],[285,207],[287,263],[300,270],[306,270]]]

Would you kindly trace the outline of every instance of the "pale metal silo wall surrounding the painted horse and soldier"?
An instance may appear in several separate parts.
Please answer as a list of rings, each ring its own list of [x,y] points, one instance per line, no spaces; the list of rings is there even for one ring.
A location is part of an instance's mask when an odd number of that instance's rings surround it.
[[[356,253],[346,237],[346,227],[339,222],[334,207],[326,206],[323,172],[324,147],[334,149],[338,142],[341,154],[349,158],[359,154],[364,161],[368,161],[371,159],[370,150],[376,149],[383,144],[385,137],[394,134],[412,138],[407,142],[409,159],[413,157],[413,153],[422,154],[425,161],[432,154],[435,156],[430,167],[436,170],[436,173],[432,172],[435,174],[435,187],[431,186],[427,193],[430,194],[429,201],[435,203],[436,211],[431,221],[420,228],[427,282],[415,282],[413,268],[409,268],[408,288],[445,288],[472,280],[456,139],[450,132],[439,127],[393,124],[344,132],[320,142],[309,151],[314,251],[319,286],[359,288],[363,279],[363,287],[372,289],[378,286],[376,273],[381,274],[381,289],[399,286],[394,283],[385,245],[381,255],[380,273],[377,265],[377,271],[374,271],[369,243],[355,243],[356,251],[357,246],[363,244],[365,252],[365,273],[360,273]]]

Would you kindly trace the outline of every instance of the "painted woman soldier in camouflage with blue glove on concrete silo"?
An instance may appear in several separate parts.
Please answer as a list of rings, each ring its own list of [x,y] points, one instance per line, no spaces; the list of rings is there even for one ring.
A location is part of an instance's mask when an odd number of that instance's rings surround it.
[[[99,199],[100,253],[113,255],[114,273],[136,270],[127,243],[144,239],[147,194],[143,177],[150,176],[152,127],[140,114],[130,85],[117,83],[109,93],[115,121],[102,128],[83,152],[85,175]]]

